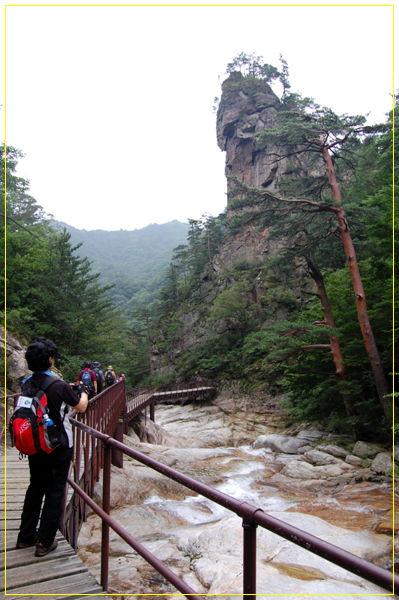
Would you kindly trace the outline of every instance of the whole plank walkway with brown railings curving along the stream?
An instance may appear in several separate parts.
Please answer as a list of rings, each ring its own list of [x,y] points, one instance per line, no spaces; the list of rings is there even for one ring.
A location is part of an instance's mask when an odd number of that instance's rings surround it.
[[[215,388],[204,384],[183,386],[180,390],[134,390],[126,399],[125,382],[115,383],[90,402],[85,413],[72,414],[74,455],[64,496],[64,511],[58,535],[58,548],[44,558],[35,558],[33,548],[15,549],[19,519],[25,490],[29,482],[28,461],[18,460],[15,448],[6,449],[2,460],[2,491],[6,503],[3,507],[0,551],[3,564],[4,590],[7,597],[16,600],[21,595],[32,598],[46,594],[52,600],[75,599],[79,594],[91,594],[99,600],[108,592],[109,532],[113,529],[145,561],[152,565],[167,581],[190,600],[203,600],[184,581],[167,568],[156,556],[135,540],[110,516],[111,464],[123,468],[123,457],[128,456],[164,476],[179,482],[197,494],[212,500],[235,513],[243,526],[243,594],[256,595],[256,529],[268,529],[306,548],[344,569],[360,575],[381,588],[382,593],[399,592],[399,582],[393,573],[333,546],[310,533],[301,531],[263,512],[261,507],[236,500],[187,475],[179,473],[148,456],[123,444],[123,430],[137,414],[150,406],[150,418],[155,418],[155,405],[159,402],[186,402],[188,399],[207,399]],[[3,399],[6,419],[12,413],[14,398]],[[4,429],[3,429],[4,433]],[[1,434],[1,431],[0,431]],[[102,471],[101,508],[93,501],[94,486]],[[101,578],[97,582],[78,557],[79,530],[87,519],[88,507],[102,519]],[[134,590],[131,592],[134,594]],[[267,594],[267,590],[262,590]]]

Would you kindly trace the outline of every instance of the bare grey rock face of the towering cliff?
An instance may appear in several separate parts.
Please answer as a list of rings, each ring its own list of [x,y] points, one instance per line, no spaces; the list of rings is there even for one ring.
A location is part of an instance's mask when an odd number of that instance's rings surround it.
[[[268,83],[262,80],[246,79],[241,73],[233,73],[222,85],[222,97],[217,114],[216,134],[219,148],[226,153],[225,174],[227,189],[232,187],[230,175],[236,175],[245,183],[279,192],[279,184],[287,173],[287,161],[274,163],[273,146],[257,146],[256,134],[274,126],[281,103]],[[269,229],[258,231],[248,226],[235,236],[226,235],[225,241],[202,273],[202,283],[193,294],[191,306],[195,309],[181,311],[178,316],[183,326],[175,336],[173,348],[168,357],[160,351],[159,338],[152,346],[152,372],[168,375],[174,372],[175,361],[188,348],[204,343],[209,339],[206,319],[215,299],[226,289],[240,281],[238,270],[252,269],[247,275],[248,302],[260,303],[267,287],[266,273],[262,268],[268,257],[286,242],[269,237]],[[298,285],[290,290],[297,303],[302,302],[301,287],[303,272],[298,270]],[[238,276],[237,276],[238,275]],[[248,286],[248,277],[252,286]],[[309,284],[306,283],[309,287]],[[251,288],[251,289],[249,289]],[[309,291],[309,290],[307,290]],[[269,305],[270,319],[287,316],[281,310],[273,314],[273,302]],[[165,364],[165,362],[167,364]]]

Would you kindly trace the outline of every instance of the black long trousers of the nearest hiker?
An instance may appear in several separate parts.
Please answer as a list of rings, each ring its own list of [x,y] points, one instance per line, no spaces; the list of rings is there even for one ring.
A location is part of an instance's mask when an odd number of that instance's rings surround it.
[[[36,539],[48,547],[53,543],[60,526],[72,448],[58,446],[50,454],[43,452],[32,454],[28,458],[30,484],[26,490],[18,542],[30,543]],[[36,535],[43,497],[44,505]]]

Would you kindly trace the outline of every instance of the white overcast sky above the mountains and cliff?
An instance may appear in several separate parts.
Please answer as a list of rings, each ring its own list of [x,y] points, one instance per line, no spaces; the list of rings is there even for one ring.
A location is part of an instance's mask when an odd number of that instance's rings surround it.
[[[79,229],[219,214],[215,96],[256,51],[338,113],[392,106],[390,6],[8,6],[6,138],[47,213]],[[220,77],[220,79],[219,79]],[[4,104],[4,102],[2,102]]]

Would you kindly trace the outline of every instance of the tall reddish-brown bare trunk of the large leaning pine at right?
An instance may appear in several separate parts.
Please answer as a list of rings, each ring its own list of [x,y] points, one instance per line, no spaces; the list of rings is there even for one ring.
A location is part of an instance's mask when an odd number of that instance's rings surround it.
[[[384,413],[388,419],[388,422],[391,423],[393,419],[392,401],[389,397],[387,397],[390,390],[388,388],[388,383],[385,378],[384,370],[382,368],[380,355],[378,352],[377,344],[375,343],[373,331],[371,329],[370,320],[367,313],[366,297],[364,294],[363,284],[360,277],[359,266],[357,264],[356,252],[350,235],[349,225],[345,216],[345,211],[341,206],[341,193],[337,179],[335,177],[334,165],[328,148],[326,146],[322,146],[321,150],[326,163],[328,181],[332,189],[334,200],[335,202],[339,203],[339,206],[337,208],[329,207],[329,210],[334,212],[338,219],[342,243],[344,245],[344,250],[349,266],[349,272],[352,279],[353,291],[355,293],[360,329],[362,331],[363,340],[366,346],[367,354],[370,359],[371,368],[373,370],[378,397],[380,399],[382,408],[384,409]]]

